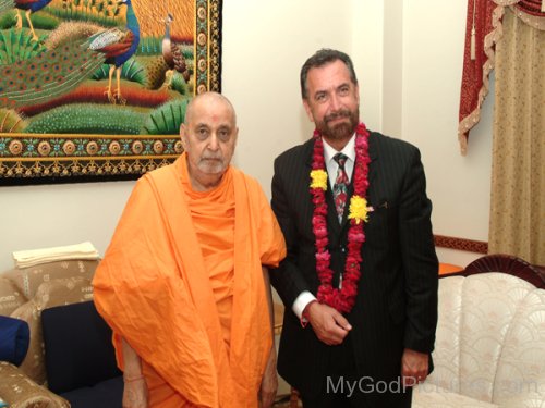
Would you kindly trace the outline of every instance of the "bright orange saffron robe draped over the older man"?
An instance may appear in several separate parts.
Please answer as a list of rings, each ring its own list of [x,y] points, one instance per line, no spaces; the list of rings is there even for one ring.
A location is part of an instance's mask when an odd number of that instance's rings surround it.
[[[207,271],[214,261],[203,251],[214,248],[199,245],[189,183],[185,153],[136,183],[96,271],[94,300],[114,332],[120,367],[121,337],[141,357],[152,407],[257,407],[272,338],[262,264],[286,256],[283,236],[258,183],[229,166],[216,188],[234,191],[234,269]],[[215,294],[218,274],[231,274],[232,296],[221,297],[225,287]]]

